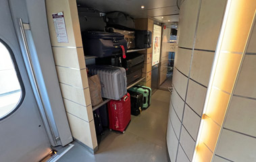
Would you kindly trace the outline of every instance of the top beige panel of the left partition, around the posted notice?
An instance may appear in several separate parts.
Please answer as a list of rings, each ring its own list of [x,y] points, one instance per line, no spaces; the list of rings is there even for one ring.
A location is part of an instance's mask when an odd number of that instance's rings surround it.
[[[64,47],[82,47],[82,38],[80,34],[80,25],[78,21],[78,11],[75,0],[47,0],[47,19],[52,46]],[[52,14],[63,11],[66,30],[68,34],[68,43],[58,43],[53,24]]]

